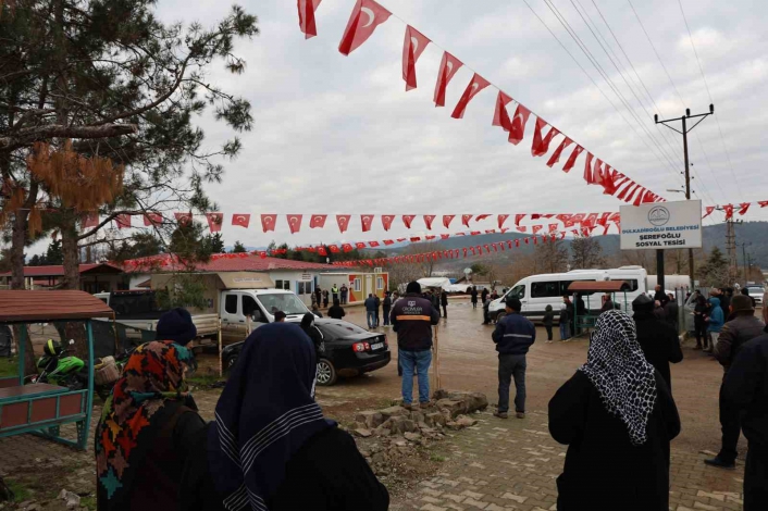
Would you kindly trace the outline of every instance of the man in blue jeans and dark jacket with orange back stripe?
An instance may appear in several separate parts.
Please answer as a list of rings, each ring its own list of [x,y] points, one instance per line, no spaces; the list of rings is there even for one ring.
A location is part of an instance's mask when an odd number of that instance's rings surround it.
[[[432,325],[439,323],[432,302],[421,296],[421,285],[411,282],[406,295],[392,307],[392,326],[397,333],[397,359],[402,369],[402,404],[413,402],[413,373],[419,375],[419,402],[430,402]]]

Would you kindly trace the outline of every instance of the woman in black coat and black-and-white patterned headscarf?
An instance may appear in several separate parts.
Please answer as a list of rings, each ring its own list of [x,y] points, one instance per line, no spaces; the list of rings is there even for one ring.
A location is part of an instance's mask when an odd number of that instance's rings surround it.
[[[669,443],[680,417],[624,312],[597,319],[586,363],[549,401],[549,433],[569,446],[558,511],[669,509]]]

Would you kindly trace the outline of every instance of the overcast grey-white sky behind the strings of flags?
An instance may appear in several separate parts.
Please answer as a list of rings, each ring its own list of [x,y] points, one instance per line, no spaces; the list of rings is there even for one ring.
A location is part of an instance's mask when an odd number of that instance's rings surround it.
[[[620,201],[583,182],[583,155],[570,174],[560,171],[565,158],[548,169],[547,157],[531,157],[533,116],[523,142],[517,147],[508,144],[506,134],[491,125],[497,94],[494,88],[486,88],[472,100],[463,120],[451,119],[453,108],[472,76],[468,66],[637,183],[668,200],[683,198],[666,191],[681,188],[683,183],[682,137],[654,125],[653,114],[680,116],[686,107],[692,113],[706,112],[710,97],[678,2],[632,2],[673,87],[627,0],[552,0],[642,125],[547,3],[528,2],[586,74],[524,0],[382,0],[394,15],[349,57],[342,55],[337,47],[355,0],[323,0],[317,11],[319,35],[309,40],[299,30],[294,0],[241,2],[249,13],[258,15],[261,30],[251,41],[236,47],[247,61],[246,72],[230,75],[219,62],[209,76],[226,90],[248,98],[255,119],[253,129],[240,135],[240,157],[226,163],[224,182],[208,188],[225,213],[222,232],[226,242],[239,239],[250,246],[264,246],[273,238],[292,245],[355,241],[407,233],[398,227],[385,235],[376,219],[374,229],[362,234],[359,216],[355,216],[350,230],[339,235],[337,229],[327,228],[335,227],[334,217],[329,217],[325,229],[309,229],[306,216],[301,233],[292,236],[283,216],[276,233],[263,234],[260,213],[618,211]],[[574,4],[583,7],[584,16],[595,23],[595,34],[605,38],[611,57],[617,55],[615,62],[623,76]],[[705,205],[768,200],[764,169],[768,161],[768,7],[746,0],[682,0],[682,4],[716,108],[716,117],[706,119],[689,139],[694,197]],[[214,23],[228,12],[226,2],[213,1],[160,0],[158,9],[166,22],[203,24]],[[418,88],[409,92],[401,78],[406,25],[396,16],[434,41],[417,65]],[[443,49],[466,66],[448,86],[446,107],[436,109],[432,97]],[[209,117],[199,123],[211,147],[232,135],[226,126]],[[745,219],[768,220],[768,208],[761,212],[754,208]],[[232,213],[251,213],[251,227],[228,225]],[[713,217],[722,220],[721,214]],[[490,219],[478,226],[493,228],[495,223]],[[399,219],[395,225],[401,226]],[[423,223],[419,220],[414,225]],[[460,221],[456,220],[450,232],[459,227]],[[435,230],[444,232],[442,225]]]

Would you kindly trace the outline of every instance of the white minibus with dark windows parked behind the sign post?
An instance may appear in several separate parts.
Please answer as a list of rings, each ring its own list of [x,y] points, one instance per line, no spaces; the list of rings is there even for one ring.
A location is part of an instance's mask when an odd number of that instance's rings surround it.
[[[488,314],[498,321],[506,315],[505,301],[507,297],[517,296],[522,303],[522,315],[531,321],[541,321],[547,306],[552,306],[557,315],[562,303],[562,297],[571,295],[568,286],[577,281],[602,282],[625,281],[630,291],[616,294],[615,301],[624,311],[632,310],[632,300],[647,290],[647,272],[642,266],[621,266],[614,270],[573,270],[568,273],[546,273],[531,275],[518,282],[501,298],[491,302]],[[603,294],[582,294],[587,308],[598,311],[603,307]],[[589,296],[589,299],[587,299]]]

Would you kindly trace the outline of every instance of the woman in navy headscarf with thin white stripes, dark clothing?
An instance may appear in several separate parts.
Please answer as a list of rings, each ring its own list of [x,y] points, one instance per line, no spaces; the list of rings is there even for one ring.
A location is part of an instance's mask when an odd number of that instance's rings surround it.
[[[314,402],[314,349],[297,325],[245,341],[208,438],[185,473],[185,510],[386,510],[351,436]]]

